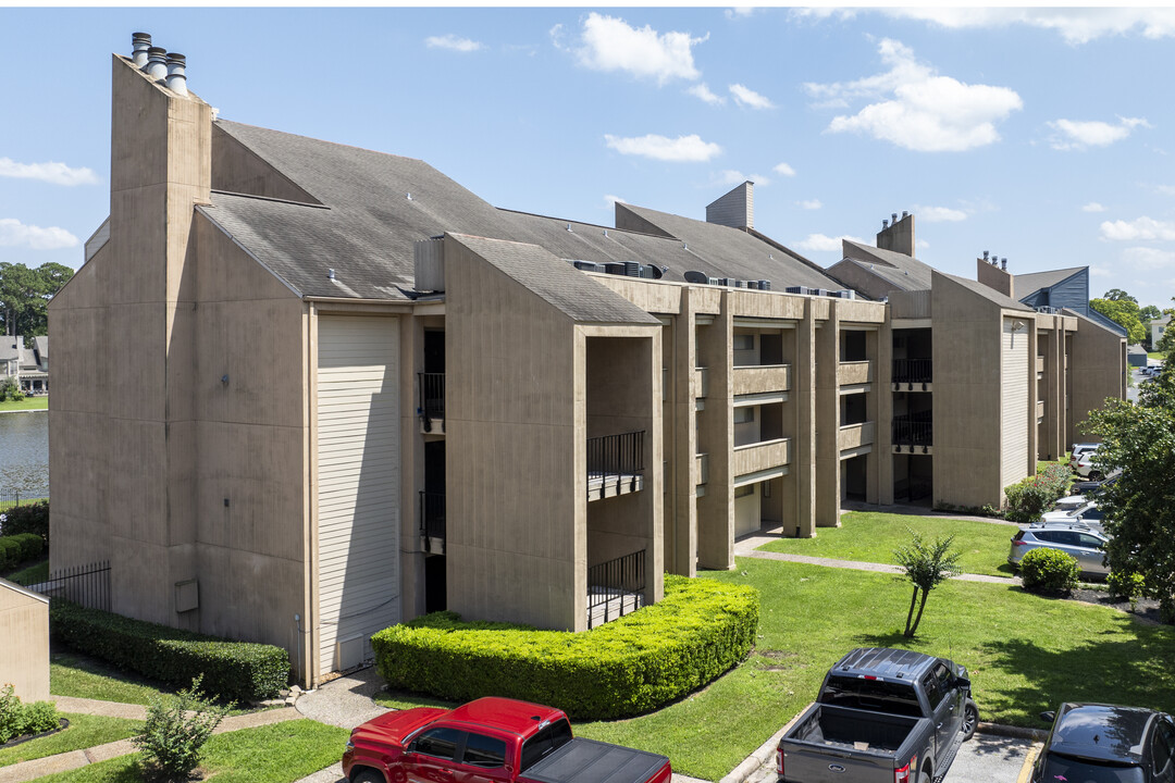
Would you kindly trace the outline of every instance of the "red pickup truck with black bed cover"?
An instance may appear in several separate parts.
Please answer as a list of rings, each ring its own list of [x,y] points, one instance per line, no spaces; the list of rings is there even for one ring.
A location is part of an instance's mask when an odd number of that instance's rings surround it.
[[[669,783],[669,758],[573,738],[563,710],[478,698],[387,713],[351,731],[351,783]]]

